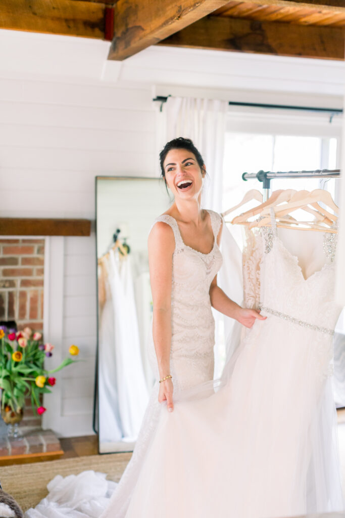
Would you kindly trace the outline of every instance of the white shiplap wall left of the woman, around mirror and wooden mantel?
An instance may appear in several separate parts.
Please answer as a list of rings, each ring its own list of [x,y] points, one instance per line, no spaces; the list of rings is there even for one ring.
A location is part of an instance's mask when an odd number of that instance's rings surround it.
[[[2,215],[94,219],[96,175],[153,176],[156,113],[151,98],[148,86],[2,78]],[[45,424],[68,437],[92,433],[94,230],[90,237],[66,237],[63,250],[62,343],[55,343],[55,353],[64,357],[74,343],[83,362],[57,376],[61,405],[51,408],[51,396],[46,398]],[[52,415],[58,408],[61,419]]]

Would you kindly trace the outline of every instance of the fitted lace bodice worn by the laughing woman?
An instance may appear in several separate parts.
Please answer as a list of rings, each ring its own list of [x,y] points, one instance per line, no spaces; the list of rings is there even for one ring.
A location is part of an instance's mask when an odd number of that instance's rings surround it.
[[[174,385],[178,384],[181,388],[213,377],[214,319],[209,287],[222,264],[217,244],[221,217],[211,210],[208,213],[214,244],[207,254],[184,243],[178,224],[170,215],[163,214],[155,220],[155,223],[167,223],[175,237],[171,293],[171,370]]]

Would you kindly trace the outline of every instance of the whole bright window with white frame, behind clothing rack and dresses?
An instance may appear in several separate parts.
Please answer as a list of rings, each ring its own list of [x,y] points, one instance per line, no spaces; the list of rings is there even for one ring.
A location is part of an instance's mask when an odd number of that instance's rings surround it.
[[[296,114],[297,113],[297,114]],[[250,189],[262,192],[262,183],[244,181],[244,172],[290,171],[339,168],[341,118],[333,119],[305,112],[257,110],[229,112],[225,139],[222,211],[241,202]],[[337,201],[338,179],[274,179],[271,192],[277,189],[327,189]],[[253,202],[252,206],[257,202]],[[250,204],[244,206],[244,210]],[[229,220],[241,209],[229,214]],[[226,218],[227,220],[227,218]],[[242,246],[242,229],[232,227],[232,234]],[[223,367],[225,353],[224,322],[216,316],[215,377]],[[345,316],[340,317],[337,330],[345,331]]]

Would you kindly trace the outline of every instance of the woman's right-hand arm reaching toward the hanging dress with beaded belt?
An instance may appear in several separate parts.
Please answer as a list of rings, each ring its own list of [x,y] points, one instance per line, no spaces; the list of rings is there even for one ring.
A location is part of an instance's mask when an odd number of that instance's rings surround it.
[[[222,225],[217,236],[218,246],[220,244]],[[261,316],[260,313],[254,309],[242,308],[231,300],[217,285],[217,276],[213,279],[209,288],[209,298],[211,299],[211,305],[224,315],[230,316],[230,318],[237,320],[239,323],[246,327],[252,327],[256,319],[266,320],[266,316]]]

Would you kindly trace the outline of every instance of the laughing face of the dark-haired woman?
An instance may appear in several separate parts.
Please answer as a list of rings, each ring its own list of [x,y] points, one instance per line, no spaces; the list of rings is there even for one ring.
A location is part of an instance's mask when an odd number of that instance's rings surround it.
[[[173,195],[181,199],[198,199],[205,167],[187,149],[171,149],[163,163],[166,182]]]

